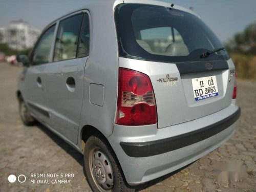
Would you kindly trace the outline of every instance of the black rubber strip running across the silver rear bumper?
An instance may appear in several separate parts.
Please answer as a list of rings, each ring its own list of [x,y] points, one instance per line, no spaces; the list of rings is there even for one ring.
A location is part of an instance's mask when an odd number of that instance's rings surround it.
[[[214,124],[205,126],[199,130],[181,134],[166,139],[147,142],[120,142],[120,145],[126,155],[130,157],[149,157],[163,154],[179,148],[197,143],[212,137],[231,126],[240,117],[240,108],[230,116]]]

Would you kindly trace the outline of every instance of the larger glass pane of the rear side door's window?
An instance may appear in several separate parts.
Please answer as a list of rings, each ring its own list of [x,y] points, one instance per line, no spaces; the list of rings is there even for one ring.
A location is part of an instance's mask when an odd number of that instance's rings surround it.
[[[76,58],[83,14],[61,20],[56,36],[53,61]]]

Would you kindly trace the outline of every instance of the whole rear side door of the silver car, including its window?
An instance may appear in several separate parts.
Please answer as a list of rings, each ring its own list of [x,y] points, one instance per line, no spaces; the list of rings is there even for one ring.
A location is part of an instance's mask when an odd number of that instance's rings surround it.
[[[77,143],[90,44],[89,14],[84,12],[59,21],[53,62],[46,68],[51,126],[73,143]]]

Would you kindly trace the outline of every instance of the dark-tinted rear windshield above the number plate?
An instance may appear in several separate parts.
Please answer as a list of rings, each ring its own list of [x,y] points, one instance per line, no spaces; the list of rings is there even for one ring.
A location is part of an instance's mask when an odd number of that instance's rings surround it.
[[[218,37],[196,15],[170,7],[121,4],[115,10],[119,56],[163,62],[226,60]]]

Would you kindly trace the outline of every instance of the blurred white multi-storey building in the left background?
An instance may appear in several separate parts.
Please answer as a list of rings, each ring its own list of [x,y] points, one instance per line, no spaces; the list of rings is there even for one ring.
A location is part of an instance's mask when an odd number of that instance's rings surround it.
[[[32,28],[24,20],[16,20],[10,23],[6,29],[6,42],[11,49],[24,50],[32,48],[40,31]]]

